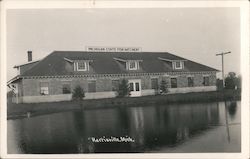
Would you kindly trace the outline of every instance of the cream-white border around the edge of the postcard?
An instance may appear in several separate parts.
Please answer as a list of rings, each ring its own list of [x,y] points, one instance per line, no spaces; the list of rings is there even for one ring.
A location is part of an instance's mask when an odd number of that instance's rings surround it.
[[[74,154],[74,155],[8,155],[6,117],[6,12],[7,9],[59,8],[175,8],[240,7],[242,122],[241,153],[143,153],[143,154]],[[248,1],[18,1],[1,2],[1,158],[249,158],[249,2]]]

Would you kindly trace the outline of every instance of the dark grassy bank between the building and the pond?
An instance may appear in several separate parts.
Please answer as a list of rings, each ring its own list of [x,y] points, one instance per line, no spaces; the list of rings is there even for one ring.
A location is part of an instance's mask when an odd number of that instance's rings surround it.
[[[194,103],[194,102],[216,102],[223,100],[239,100],[240,91],[226,90],[224,92],[197,92],[185,94],[168,94],[157,96],[143,96],[134,98],[109,98],[109,99],[93,99],[79,101],[64,101],[50,103],[32,103],[32,104],[8,104],[8,119],[22,118],[30,112],[31,116],[56,113],[62,111],[72,111],[81,109],[98,109],[122,106],[149,106],[163,105],[170,103]]]

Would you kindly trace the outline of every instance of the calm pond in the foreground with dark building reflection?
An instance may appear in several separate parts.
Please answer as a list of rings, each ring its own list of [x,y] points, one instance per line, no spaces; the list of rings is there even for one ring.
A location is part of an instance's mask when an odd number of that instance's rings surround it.
[[[55,113],[8,120],[7,148],[10,154],[240,152],[240,122],[240,101]]]

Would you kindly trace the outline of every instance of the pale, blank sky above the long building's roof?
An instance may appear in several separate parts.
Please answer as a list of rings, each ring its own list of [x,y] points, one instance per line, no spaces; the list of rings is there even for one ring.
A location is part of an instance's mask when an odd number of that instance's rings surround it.
[[[13,66],[42,59],[54,50],[86,46],[141,47],[170,52],[240,74],[239,8],[11,9],[7,11],[7,80]],[[221,75],[218,74],[218,77]]]

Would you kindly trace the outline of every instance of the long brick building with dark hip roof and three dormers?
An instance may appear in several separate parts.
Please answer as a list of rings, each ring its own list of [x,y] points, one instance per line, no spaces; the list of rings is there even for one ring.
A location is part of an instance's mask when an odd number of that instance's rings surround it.
[[[130,96],[154,95],[166,81],[169,93],[216,90],[218,70],[165,52],[54,51],[40,61],[15,66],[7,84],[16,103],[68,101],[80,85],[84,99],[112,98],[122,79]]]

